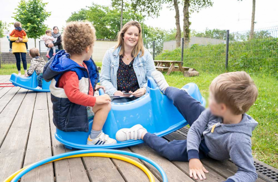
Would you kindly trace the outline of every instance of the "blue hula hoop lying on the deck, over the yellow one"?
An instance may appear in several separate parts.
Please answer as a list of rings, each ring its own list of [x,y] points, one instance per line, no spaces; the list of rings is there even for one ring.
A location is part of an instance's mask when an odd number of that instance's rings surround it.
[[[132,156],[132,157],[136,157],[138,159],[142,159],[143,161],[146,161],[150,164],[152,164],[161,174],[162,176],[162,179],[163,179],[163,182],[168,182],[168,179],[167,179],[167,176],[166,176],[166,173],[165,171],[156,163],[154,162],[153,160],[151,159],[148,159],[147,157],[145,156],[142,156],[140,154],[136,154],[136,153],[133,153],[133,152],[127,152],[127,151],[120,151],[120,150],[113,150],[113,149],[88,149],[88,150],[80,150],[80,151],[72,151],[72,152],[66,152],[66,153],[63,153],[63,154],[58,154],[56,156],[52,156],[52,157],[48,157],[46,159],[43,159],[39,162],[36,162],[34,164],[31,164],[29,166],[26,166],[25,168],[17,171],[14,175],[14,178],[12,178],[12,175],[9,176],[7,179],[5,179],[5,181],[3,182],[16,182],[18,181],[24,174],[28,173],[29,171],[31,171],[32,169],[38,167],[38,166],[41,166],[47,162],[51,162],[51,161],[55,161],[57,159],[61,159],[61,158],[65,158],[65,157],[68,157],[70,158],[69,156],[73,156],[73,155],[78,155],[78,154],[88,154],[88,153],[112,153],[112,154],[123,154],[123,155],[127,155],[127,156]],[[9,180],[9,181],[8,181]]]

